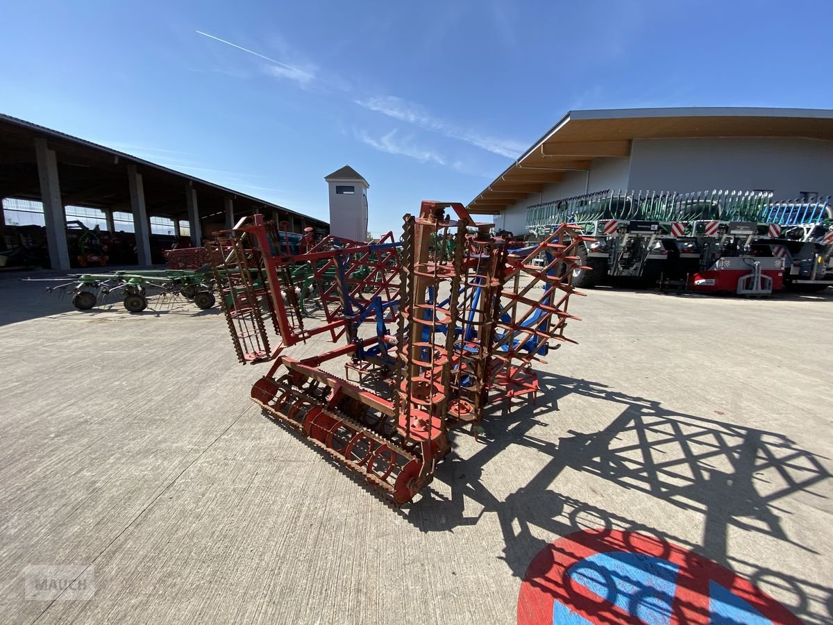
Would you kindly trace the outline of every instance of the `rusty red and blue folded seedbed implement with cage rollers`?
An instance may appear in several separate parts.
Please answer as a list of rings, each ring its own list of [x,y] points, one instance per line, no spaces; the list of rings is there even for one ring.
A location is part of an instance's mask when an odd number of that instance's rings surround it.
[[[242,363],[272,361],[252,387],[271,417],[357,473],[387,502],[431,483],[454,428],[495,402],[535,401],[533,365],[577,319],[567,303],[588,238],[562,225],[510,249],[458,203],[423,202],[401,241],[324,238],[288,254],[274,224],[244,218],[209,244],[220,303]],[[312,266],[323,319],[305,320],[293,282]],[[329,333],[341,347],[302,347]],[[362,382],[334,373],[357,370]]]

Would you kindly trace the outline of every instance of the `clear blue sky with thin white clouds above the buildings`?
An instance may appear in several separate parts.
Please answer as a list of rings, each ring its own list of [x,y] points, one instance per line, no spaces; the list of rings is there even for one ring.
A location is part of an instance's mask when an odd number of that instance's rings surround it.
[[[568,110],[831,107],[830,2],[4,2],[0,111],[370,229],[466,203]],[[215,38],[216,37],[216,38]],[[245,48],[245,49],[241,49]]]

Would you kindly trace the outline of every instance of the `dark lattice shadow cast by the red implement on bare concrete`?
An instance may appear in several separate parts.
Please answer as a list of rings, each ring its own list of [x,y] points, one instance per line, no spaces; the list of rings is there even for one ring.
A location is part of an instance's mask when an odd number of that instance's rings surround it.
[[[409,522],[426,532],[453,531],[461,525],[476,525],[486,512],[496,513],[505,542],[501,558],[521,578],[531,559],[548,543],[536,533],[553,538],[592,527],[646,533],[742,572],[765,591],[767,586],[780,587],[792,597],[786,607],[806,622],[831,622],[830,588],[734,557],[727,542],[733,527],[816,553],[786,534],[781,517],[791,512],[779,500],[799,491],[825,498],[814,488],[831,477],[819,462],[823,457],[796,448],[778,433],[676,413],[599,383],[547,373],[539,373],[539,379],[542,388],[549,389],[543,398],[539,396],[539,408],[544,399],[553,411],[550,414],[557,414],[558,400],[571,393],[619,404],[621,413],[599,432],[570,431],[557,444],[531,435],[534,426],[544,424],[531,406],[508,414],[504,410],[504,416],[493,417],[492,423],[487,418],[487,433],[493,438],[469,458],[451,457],[441,463],[435,480],[447,488],[431,488],[407,511]],[[500,500],[481,483],[480,475],[496,454],[512,444],[535,449],[548,459],[529,483]],[[565,468],[592,473],[697,515],[691,522],[704,527],[701,543],[687,542],[551,490]],[[450,498],[439,492],[449,489]],[[466,498],[480,504],[480,512],[466,516]]]

